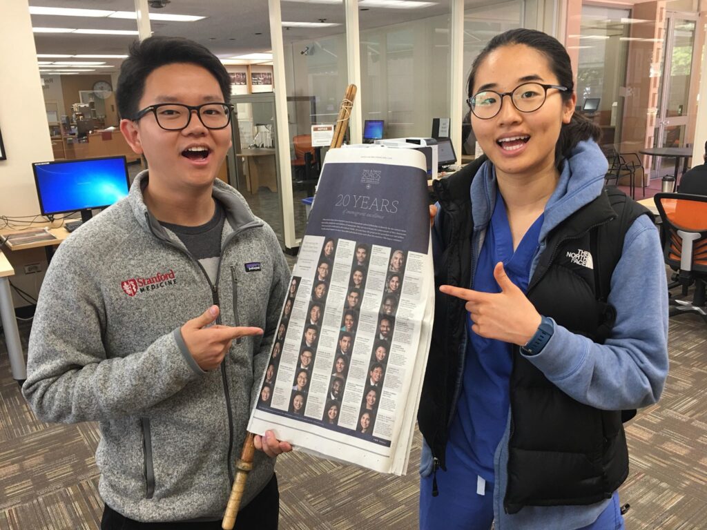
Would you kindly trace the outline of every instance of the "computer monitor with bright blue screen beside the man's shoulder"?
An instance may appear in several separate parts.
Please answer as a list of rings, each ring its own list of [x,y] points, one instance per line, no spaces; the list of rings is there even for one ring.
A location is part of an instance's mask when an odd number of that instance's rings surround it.
[[[32,170],[43,216],[80,211],[86,222],[92,208],[105,208],[128,194],[124,156],[35,162]]]

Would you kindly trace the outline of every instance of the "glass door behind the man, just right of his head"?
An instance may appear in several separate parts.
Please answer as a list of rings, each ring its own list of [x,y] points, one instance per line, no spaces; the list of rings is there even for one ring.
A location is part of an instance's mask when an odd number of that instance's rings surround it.
[[[284,246],[284,220],[276,149],[273,93],[233,95],[233,146],[230,184],[243,194],[253,213],[267,222]]]

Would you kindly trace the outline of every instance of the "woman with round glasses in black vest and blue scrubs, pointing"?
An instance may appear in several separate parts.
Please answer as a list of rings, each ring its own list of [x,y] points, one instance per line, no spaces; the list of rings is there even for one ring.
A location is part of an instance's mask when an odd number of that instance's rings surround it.
[[[599,300],[594,266],[611,249],[592,234],[617,215],[600,131],[573,114],[553,37],[494,37],[468,95],[488,159],[436,185],[420,527],[621,529],[621,410],[658,401],[668,367],[658,231],[626,199],[632,220]]]

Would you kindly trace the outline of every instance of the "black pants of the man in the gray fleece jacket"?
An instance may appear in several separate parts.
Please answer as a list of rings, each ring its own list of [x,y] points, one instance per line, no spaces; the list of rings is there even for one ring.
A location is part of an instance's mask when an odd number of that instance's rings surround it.
[[[237,530],[277,530],[280,493],[274,475],[265,488],[238,512]],[[100,530],[221,530],[221,521],[141,523],[122,516],[105,505]]]

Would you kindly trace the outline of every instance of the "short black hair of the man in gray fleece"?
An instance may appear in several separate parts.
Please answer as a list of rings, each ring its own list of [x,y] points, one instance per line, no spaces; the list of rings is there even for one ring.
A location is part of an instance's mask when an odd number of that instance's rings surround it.
[[[223,101],[230,100],[230,78],[226,67],[208,48],[183,37],[148,37],[130,45],[129,57],[123,61],[115,90],[115,100],[121,118],[131,119],[139,112],[138,105],[145,92],[145,81],[160,66],[175,63],[196,64],[216,78]]]

